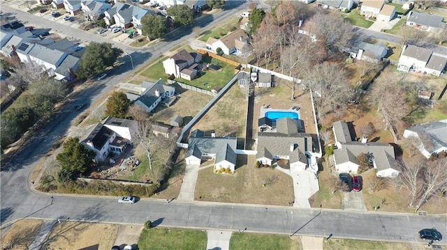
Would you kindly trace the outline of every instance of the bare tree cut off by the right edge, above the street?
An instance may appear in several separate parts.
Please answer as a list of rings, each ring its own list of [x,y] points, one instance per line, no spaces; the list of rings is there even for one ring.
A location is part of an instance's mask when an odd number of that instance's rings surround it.
[[[416,211],[428,201],[430,196],[439,191],[443,191],[447,187],[447,159],[438,159],[436,162],[427,162],[424,169],[423,177],[423,193],[420,197]]]

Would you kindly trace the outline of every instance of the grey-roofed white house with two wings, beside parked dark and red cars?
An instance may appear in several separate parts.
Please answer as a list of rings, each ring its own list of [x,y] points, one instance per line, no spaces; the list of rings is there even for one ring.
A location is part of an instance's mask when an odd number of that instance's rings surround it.
[[[379,178],[395,178],[400,171],[395,161],[394,148],[389,143],[353,141],[348,124],[341,120],[332,124],[335,136],[335,169],[339,173],[357,173],[358,155],[366,154]]]

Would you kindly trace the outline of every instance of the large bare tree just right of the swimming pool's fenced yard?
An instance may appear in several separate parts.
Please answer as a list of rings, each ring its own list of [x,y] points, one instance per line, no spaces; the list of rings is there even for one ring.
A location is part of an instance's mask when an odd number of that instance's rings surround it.
[[[314,66],[307,74],[307,80],[314,95],[314,103],[318,120],[328,112],[346,109],[351,98],[351,86],[346,79],[346,71],[342,65],[324,62]]]

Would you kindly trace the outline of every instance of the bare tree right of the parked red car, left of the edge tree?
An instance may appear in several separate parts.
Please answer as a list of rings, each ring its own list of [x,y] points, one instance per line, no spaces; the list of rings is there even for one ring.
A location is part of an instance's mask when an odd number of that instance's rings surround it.
[[[425,163],[422,160],[411,161],[407,166],[401,161],[401,172],[396,178],[393,178],[394,185],[397,187],[404,187],[411,194],[408,206],[413,207],[413,203],[418,198],[420,181],[418,180],[419,173],[423,170]]]

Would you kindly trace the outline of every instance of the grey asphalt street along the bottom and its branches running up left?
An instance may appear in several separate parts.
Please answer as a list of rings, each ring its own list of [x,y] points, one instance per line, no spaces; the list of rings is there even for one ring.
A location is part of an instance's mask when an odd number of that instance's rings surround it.
[[[236,1],[228,1],[231,6],[214,17],[205,17],[199,26],[212,26],[237,15],[238,11],[247,8]],[[16,13],[17,19],[25,19],[30,23],[48,26],[67,36],[75,36],[80,40],[100,41],[101,38],[91,36],[84,31],[71,29],[63,24],[22,13],[18,10],[1,6],[3,12]],[[182,29],[171,34],[166,41],[147,49],[133,49],[115,43],[124,52],[131,53],[135,67],[151,60],[154,56],[171,49],[185,40],[192,38],[191,29]],[[111,42],[104,40],[104,42]],[[125,56],[129,57],[129,56]],[[129,59],[128,59],[129,60]],[[103,93],[109,91],[124,77],[131,73],[130,63],[120,66],[109,73],[108,77],[96,81],[82,91],[76,98],[94,103]],[[16,219],[43,218],[68,219],[76,221],[102,221],[123,224],[144,224],[147,219],[155,225],[207,228],[216,230],[233,230],[247,228],[249,232],[281,233],[294,235],[317,235],[343,237],[364,240],[422,242],[417,232],[420,228],[436,227],[443,235],[447,235],[447,217],[418,216],[413,214],[388,214],[381,212],[344,212],[342,210],[308,210],[279,206],[242,205],[226,203],[182,202],[166,200],[142,199],[133,205],[119,205],[117,198],[50,195],[32,192],[29,185],[29,174],[43,157],[54,141],[64,136],[71,121],[78,116],[74,104],[67,104],[52,118],[52,122],[38,132],[15,155],[8,168],[1,171],[0,184],[0,224],[2,228],[10,226]],[[441,242],[443,243],[443,242]]]

